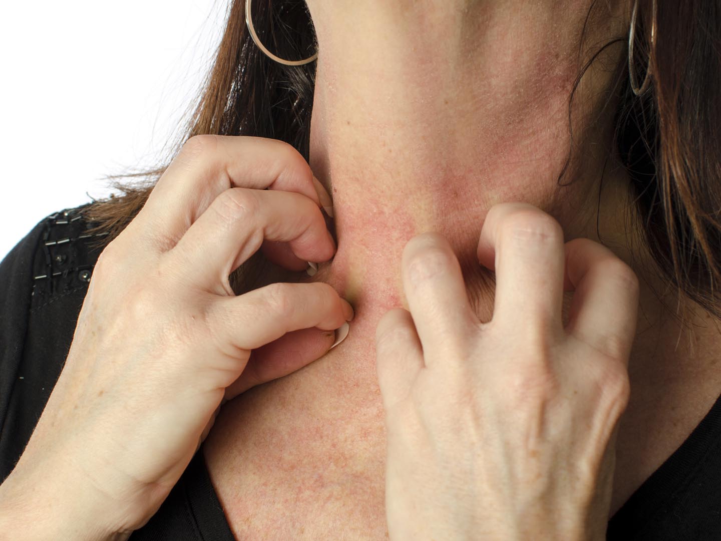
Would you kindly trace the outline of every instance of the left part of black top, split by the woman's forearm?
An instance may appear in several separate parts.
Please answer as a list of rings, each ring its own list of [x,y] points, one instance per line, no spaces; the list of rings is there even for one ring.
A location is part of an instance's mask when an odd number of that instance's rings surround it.
[[[0,483],[12,472],[70,350],[101,249],[87,205],[47,216],[0,263]],[[133,541],[234,541],[202,448]]]

